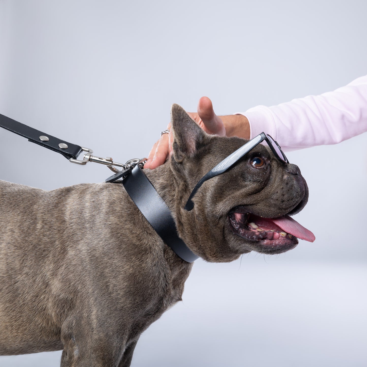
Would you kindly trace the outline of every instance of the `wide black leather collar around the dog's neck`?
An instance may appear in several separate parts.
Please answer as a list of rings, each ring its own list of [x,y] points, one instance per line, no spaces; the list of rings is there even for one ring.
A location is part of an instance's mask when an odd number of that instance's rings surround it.
[[[137,164],[122,181],[132,201],[148,220],[161,239],[187,262],[193,262],[196,256],[177,234],[175,221],[167,204],[159,196],[148,177]]]

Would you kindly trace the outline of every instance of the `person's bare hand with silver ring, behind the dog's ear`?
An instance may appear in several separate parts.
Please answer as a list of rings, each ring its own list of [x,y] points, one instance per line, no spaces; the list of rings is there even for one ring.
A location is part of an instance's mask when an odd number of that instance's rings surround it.
[[[245,116],[226,115],[219,117],[215,115],[213,105],[208,97],[201,97],[197,105],[197,113],[188,112],[188,115],[208,134],[250,138],[250,126]],[[167,128],[171,130],[171,123],[168,124]],[[172,142],[172,131],[169,134],[162,134],[150,150],[144,168],[153,170],[163,164],[168,155],[172,153]]]

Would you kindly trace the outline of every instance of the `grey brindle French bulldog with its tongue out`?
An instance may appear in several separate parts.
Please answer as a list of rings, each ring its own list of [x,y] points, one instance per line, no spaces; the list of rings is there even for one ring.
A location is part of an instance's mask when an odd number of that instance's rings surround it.
[[[173,156],[145,173],[190,250],[229,262],[312,240],[285,216],[305,206],[305,179],[261,144],[183,210],[199,179],[246,141],[206,134],[178,105],[171,121]],[[161,240],[121,183],[44,191],[0,181],[0,198],[0,355],[63,349],[63,367],[130,366],[139,335],[181,301],[192,264]]]

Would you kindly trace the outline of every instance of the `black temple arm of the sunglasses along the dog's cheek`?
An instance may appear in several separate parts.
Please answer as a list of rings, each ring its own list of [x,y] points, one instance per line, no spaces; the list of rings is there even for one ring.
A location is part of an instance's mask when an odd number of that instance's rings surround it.
[[[266,138],[264,132],[257,135],[255,138],[251,139],[249,142],[241,146],[241,148],[237,149],[231,155],[226,157],[224,160],[219,162],[217,166],[212,168],[195,186],[192,190],[190,197],[185,205],[185,210],[190,211],[194,207],[194,203],[192,201],[193,196],[196,194],[197,190],[199,190],[200,186],[203,185],[205,181],[208,179],[218,176],[224,173],[228,168],[232,167],[239,159],[241,159],[246,153],[250,152],[255,146],[261,143]]]

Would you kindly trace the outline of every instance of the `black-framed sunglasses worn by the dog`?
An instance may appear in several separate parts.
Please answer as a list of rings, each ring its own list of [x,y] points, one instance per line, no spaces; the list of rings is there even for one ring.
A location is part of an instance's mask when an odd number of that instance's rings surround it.
[[[217,166],[215,166],[203,178],[201,178],[201,180],[196,184],[195,188],[192,190],[190,197],[185,205],[185,210],[189,211],[194,207],[192,198],[205,181],[224,173],[226,170],[228,170],[228,168],[232,167],[235,163],[237,163],[237,161],[239,161],[245,154],[250,152],[251,149],[254,149],[255,146],[257,146],[264,140],[269,145],[269,148],[272,150],[273,154],[279,161],[283,163],[289,163],[287,157],[284,155],[283,151],[281,150],[280,145],[269,134],[265,135],[265,133],[262,132],[261,134],[255,136],[253,139],[251,139],[246,144],[241,146],[241,148],[237,149],[235,152],[230,154],[224,160],[219,162]]]

